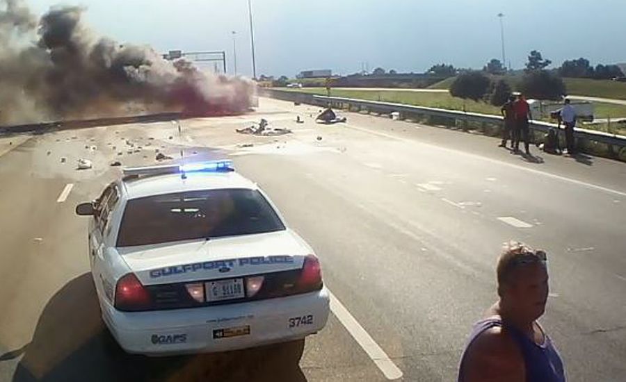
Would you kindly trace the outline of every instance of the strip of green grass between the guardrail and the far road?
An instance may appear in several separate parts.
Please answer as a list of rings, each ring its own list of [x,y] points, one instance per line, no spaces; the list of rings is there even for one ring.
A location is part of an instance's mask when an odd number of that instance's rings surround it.
[[[285,89],[294,92],[303,92],[311,94],[326,95],[325,88],[302,88],[302,89]],[[406,90],[397,91],[376,91],[376,90],[344,90],[344,89],[331,89],[330,95],[333,97],[346,97],[355,99],[367,99],[370,101],[384,101],[394,103],[404,103],[407,105],[426,106],[430,108],[442,108],[448,110],[463,110],[465,105],[465,111],[470,113],[481,114],[495,114],[499,115],[500,108],[492,106],[489,103],[463,101],[463,99],[452,97],[449,93],[423,93],[423,92],[410,92]],[[626,117],[626,106],[615,105],[613,103],[595,103],[595,117],[596,118],[617,118]],[[584,128],[597,131],[609,131],[607,124],[599,125],[580,125]],[[626,126],[623,124],[611,124],[610,133],[617,133],[626,135]]]

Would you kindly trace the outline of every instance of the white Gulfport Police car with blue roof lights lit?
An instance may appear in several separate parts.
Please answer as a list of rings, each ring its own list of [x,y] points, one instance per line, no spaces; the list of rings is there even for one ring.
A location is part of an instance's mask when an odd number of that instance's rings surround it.
[[[125,351],[225,351],[298,340],[328,319],[319,260],[230,161],[124,170],[93,202],[89,260]]]

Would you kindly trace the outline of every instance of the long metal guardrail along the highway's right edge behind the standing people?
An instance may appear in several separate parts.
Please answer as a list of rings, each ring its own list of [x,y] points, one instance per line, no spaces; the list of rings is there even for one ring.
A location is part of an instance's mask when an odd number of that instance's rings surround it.
[[[364,99],[344,97],[326,97],[317,94],[275,89],[263,89],[261,92],[266,97],[281,99],[283,101],[307,103],[321,107],[330,106],[337,109],[368,111],[370,113],[380,114],[400,113],[401,119],[410,118],[420,121],[423,121],[424,119],[440,119],[438,122],[443,121],[441,124],[452,126],[457,126],[457,122],[460,122],[462,125],[461,127],[466,129],[470,127],[470,124],[478,124],[479,128],[484,133],[491,133],[490,135],[497,135],[503,124],[503,118],[500,115],[466,113],[459,110],[428,108],[425,106],[412,106],[403,103],[367,101]],[[444,121],[445,119],[449,119],[454,122],[446,123]],[[428,124],[428,122],[426,123]],[[440,123],[435,122],[435,124]],[[534,133],[540,133],[543,135],[549,130],[549,128],[558,127],[556,124],[541,121],[532,121],[529,126],[531,131],[533,131],[533,135]],[[536,137],[533,136],[533,138]],[[604,133],[602,131],[593,131],[585,128],[575,128],[575,138],[582,151],[626,161],[626,136],[624,135]]]

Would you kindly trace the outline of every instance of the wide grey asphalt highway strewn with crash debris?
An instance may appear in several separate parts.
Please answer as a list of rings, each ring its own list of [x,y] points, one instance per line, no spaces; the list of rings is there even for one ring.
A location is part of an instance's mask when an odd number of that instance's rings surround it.
[[[182,121],[180,135],[154,122],[0,138],[0,380],[452,381],[510,239],[548,252],[542,322],[569,380],[626,379],[625,164],[534,147],[522,157],[494,138],[355,113],[320,125],[316,112],[261,99],[250,115]],[[234,132],[260,117],[294,133]],[[119,176],[111,161],[154,163],[155,149],[230,157],[262,185],[321,258],[335,297],[326,329],[229,354],[115,347],[74,206]]]

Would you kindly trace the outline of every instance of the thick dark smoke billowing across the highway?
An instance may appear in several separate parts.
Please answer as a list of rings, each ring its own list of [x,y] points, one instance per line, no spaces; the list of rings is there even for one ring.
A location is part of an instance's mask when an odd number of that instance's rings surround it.
[[[83,11],[54,7],[38,21],[22,0],[0,0],[0,123],[250,107],[251,81],[97,38],[81,22]]]

